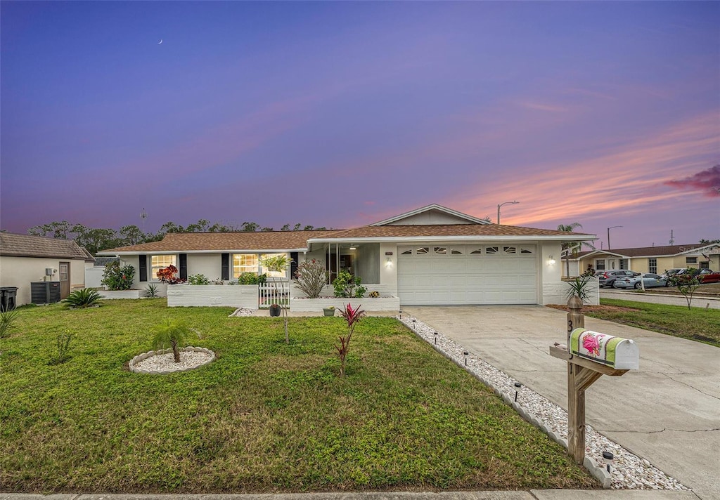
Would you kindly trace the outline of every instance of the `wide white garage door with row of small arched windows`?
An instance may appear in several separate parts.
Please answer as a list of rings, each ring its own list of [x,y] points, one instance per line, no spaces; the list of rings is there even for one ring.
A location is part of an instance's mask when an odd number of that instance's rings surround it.
[[[397,247],[401,304],[537,304],[534,245]]]

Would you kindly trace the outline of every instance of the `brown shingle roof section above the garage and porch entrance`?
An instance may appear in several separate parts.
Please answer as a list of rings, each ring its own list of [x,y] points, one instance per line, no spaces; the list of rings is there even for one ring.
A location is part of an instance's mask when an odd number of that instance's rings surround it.
[[[498,224],[438,224],[413,226],[363,226],[356,229],[333,232],[316,237],[328,238],[377,238],[377,237],[453,237],[453,236],[567,236],[570,240],[588,240],[593,235],[577,232],[535,229],[533,227],[503,226]]]

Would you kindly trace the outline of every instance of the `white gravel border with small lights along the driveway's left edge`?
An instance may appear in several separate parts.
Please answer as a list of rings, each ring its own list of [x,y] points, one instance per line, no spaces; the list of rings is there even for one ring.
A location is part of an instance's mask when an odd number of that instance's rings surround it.
[[[464,347],[442,335],[442,332],[437,332],[435,335],[436,330],[428,327],[419,319],[408,315],[397,317],[397,319],[412,329],[415,335],[433,345],[436,350],[479,378],[482,383],[490,386],[524,419],[535,424],[552,440],[567,449],[567,412],[564,409],[524,385],[517,389],[518,401],[521,404],[514,402],[515,383],[518,382],[514,378],[472,353],[465,356],[464,353],[467,350]],[[603,463],[603,451],[610,451],[614,455],[609,475]],[[667,476],[644,458],[630,453],[621,445],[595,431],[590,425],[585,427],[585,463],[583,465],[606,488],[689,490],[677,479]]]

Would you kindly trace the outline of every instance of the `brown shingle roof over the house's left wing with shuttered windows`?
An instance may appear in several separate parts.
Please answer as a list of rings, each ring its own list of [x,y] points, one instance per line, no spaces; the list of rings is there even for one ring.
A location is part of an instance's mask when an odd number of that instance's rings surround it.
[[[100,253],[301,250],[307,248],[310,238],[325,237],[333,232],[336,231],[171,232],[160,241],[111,248]]]

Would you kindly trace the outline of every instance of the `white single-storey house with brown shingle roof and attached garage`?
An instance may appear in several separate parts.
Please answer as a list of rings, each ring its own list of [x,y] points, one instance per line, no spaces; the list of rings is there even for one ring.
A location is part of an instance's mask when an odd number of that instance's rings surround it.
[[[157,271],[179,268],[233,280],[264,272],[262,255],[282,253],[297,263],[315,259],[330,272],[347,270],[368,288],[401,304],[557,304],[567,300],[561,280],[562,242],[595,235],[492,224],[440,205],[356,229],[329,231],[170,233],[159,242],[104,250],[135,267],[135,288],[156,282]],[[161,288],[162,289],[162,288]]]

